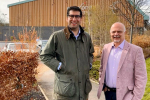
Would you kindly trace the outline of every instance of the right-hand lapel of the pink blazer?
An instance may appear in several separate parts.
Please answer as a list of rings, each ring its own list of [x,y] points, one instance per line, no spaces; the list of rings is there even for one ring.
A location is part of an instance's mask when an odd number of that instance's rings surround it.
[[[121,58],[120,58],[120,61],[119,61],[119,66],[118,66],[118,71],[117,73],[119,72],[120,68],[122,67],[122,64],[126,58],[126,55],[128,53],[128,50],[129,50],[129,43],[127,41],[125,41],[124,43],[124,48],[122,50],[122,54],[121,54]]]

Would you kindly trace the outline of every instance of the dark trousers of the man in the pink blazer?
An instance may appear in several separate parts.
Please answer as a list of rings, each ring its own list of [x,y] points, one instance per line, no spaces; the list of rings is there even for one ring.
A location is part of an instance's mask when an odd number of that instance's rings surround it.
[[[110,91],[107,86],[104,84],[103,91],[105,94],[106,100],[116,100],[116,91]]]

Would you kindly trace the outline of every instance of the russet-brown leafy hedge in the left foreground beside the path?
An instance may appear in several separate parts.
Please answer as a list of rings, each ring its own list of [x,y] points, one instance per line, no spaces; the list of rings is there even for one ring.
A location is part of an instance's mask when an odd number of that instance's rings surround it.
[[[0,100],[20,100],[36,89],[38,53],[0,52]]]

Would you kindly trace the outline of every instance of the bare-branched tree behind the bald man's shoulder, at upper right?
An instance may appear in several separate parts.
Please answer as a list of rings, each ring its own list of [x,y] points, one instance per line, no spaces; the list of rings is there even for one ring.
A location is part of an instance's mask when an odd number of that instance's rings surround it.
[[[148,16],[142,11],[150,10],[150,6],[146,5],[148,0],[117,0],[110,6],[114,13],[122,16],[130,25],[130,43],[132,43],[133,28],[138,25],[141,16]],[[121,5],[121,6],[120,6]],[[144,22],[143,22],[144,23]]]

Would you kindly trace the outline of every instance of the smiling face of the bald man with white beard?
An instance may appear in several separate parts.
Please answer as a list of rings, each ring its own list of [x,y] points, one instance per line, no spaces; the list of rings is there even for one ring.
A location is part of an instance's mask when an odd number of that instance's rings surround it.
[[[120,23],[115,23],[110,29],[111,39],[114,44],[121,44],[125,39],[125,29]]]

